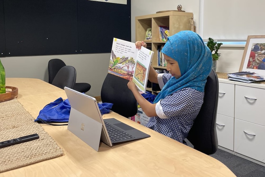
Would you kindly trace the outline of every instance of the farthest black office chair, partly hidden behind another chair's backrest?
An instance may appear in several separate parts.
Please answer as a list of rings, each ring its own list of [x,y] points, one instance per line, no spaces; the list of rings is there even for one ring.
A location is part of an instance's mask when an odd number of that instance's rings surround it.
[[[53,82],[54,77],[56,76],[57,72],[63,67],[66,66],[65,62],[63,62],[61,59],[55,58],[51,59],[48,62],[48,74],[49,74],[49,83],[51,84]],[[76,83],[74,90],[77,90],[81,93],[85,93],[89,91],[91,88],[91,85],[89,83]]]

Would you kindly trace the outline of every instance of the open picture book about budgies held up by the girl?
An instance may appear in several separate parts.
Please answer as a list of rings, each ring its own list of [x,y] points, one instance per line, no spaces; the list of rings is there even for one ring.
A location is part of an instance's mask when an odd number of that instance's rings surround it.
[[[145,93],[148,73],[154,52],[135,43],[113,38],[108,73],[133,80],[136,87]]]

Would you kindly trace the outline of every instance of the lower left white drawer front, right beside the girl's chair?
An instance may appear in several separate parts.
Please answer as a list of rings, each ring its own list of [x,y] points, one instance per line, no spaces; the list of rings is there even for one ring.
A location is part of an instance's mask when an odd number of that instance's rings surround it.
[[[217,114],[216,132],[218,137],[218,145],[234,150],[234,118],[226,115]]]

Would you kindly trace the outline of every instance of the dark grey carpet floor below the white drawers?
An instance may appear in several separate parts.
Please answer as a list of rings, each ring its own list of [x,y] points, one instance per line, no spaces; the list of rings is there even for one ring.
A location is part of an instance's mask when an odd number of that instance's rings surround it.
[[[188,146],[193,147],[186,139]],[[265,177],[265,167],[218,149],[210,155],[226,165],[237,177]]]

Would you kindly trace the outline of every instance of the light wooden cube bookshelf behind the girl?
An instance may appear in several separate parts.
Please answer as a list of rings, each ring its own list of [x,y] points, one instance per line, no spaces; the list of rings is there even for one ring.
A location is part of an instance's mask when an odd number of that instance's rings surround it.
[[[135,37],[136,41],[143,41],[146,30],[152,28],[152,41],[145,42],[147,47],[154,51],[152,58],[152,66],[155,69],[166,69],[166,66],[157,65],[157,47],[164,45],[166,42],[161,42],[159,38],[159,26],[168,26],[169,34],[173,35],[183,30],[190,30],[190,18],[193,13],[168,11],[156,14],[142,15],[135,17]],[[148,90],[152,90],[149,88]],[[154,91],[158,92],[158,91]]]

